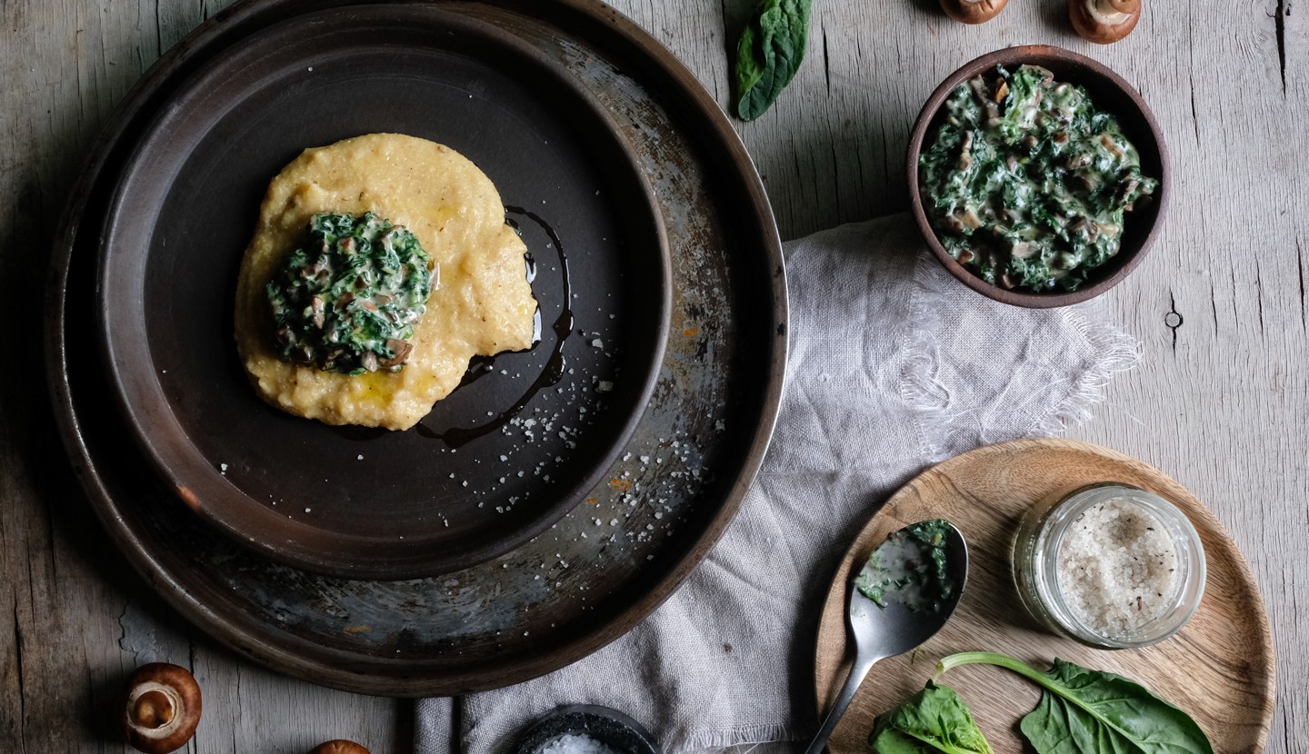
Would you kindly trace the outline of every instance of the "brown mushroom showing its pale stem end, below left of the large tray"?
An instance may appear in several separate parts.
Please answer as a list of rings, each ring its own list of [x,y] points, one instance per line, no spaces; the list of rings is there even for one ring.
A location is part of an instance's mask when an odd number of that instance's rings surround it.
[[[169,662],[137,668],[127,679],[123,733],[145,754],[177,751],[200,724],[200,686],[195,677]]]

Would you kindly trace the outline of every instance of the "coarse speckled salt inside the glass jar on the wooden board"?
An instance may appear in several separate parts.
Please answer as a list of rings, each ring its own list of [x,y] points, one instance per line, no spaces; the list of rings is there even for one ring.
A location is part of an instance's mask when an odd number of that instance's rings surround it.
[[[1178,585],[1173,538],[1155,516],[1127,500],[1088,508],[1069,526],[1058,564],[1069,611],[1114,639],[1158,618]]]

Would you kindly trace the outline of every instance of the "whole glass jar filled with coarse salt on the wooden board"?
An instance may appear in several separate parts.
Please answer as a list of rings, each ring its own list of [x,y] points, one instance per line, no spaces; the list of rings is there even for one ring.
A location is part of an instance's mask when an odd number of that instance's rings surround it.
[[[1140,538],[1106,547],[1124,533]],[[1134,577],[1126,588],[1110,583]],[[1051,631],[1101,649],[1145,647],[1179,631],[1199,607],[1204,547],[1186,514],[1158,495],[1089,484],[1028,511],[1013,542],[1013,579],[1024,606]]]

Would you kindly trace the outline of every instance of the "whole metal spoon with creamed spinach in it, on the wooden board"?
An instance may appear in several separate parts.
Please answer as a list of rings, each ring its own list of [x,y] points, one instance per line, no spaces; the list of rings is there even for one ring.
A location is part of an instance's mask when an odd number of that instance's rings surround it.
[[[805,754],[822,753],[876,662],[918,648],[945,626],[967,575],[963,534],[942,518],[893,531],[873,550],[850,589],[855,664]]]

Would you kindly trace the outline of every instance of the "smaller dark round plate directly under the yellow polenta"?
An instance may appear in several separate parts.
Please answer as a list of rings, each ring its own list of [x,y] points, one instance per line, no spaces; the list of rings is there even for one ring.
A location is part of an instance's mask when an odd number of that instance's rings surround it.
[[[541,302],[534,350],[476,360],[406,432],[264,406],[232,336],[268,179],[305,147],[367,132],[482,168]],[[238,541],[344,577],[466,568],[580,503],[640,419],[669,318],[654,212],[602,107],[517,37],[431,7],[309,13],[182,84],[128,158],[101,259],[109,370],[166,483]]]

